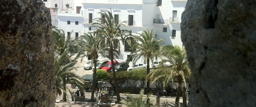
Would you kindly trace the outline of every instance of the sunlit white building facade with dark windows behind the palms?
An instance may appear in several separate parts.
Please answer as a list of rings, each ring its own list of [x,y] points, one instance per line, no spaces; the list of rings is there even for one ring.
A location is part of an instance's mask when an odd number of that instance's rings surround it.
[[[65,35],[72,32],[71,37],[79,37],[95,30],[91,24],[95,22],[93,19],[102,17],[99,12],[111,10],[119,23],[127,21],[123,29],[131,30],[132,34],[153,30],[157,40],[165,40],[162,44],[182,47],[180,23],[186,3],[187,0],[73,0],[72,8],[58,9],[56,27],[63,29]],[[118,60],[125,61],[129,55],[129,50],[122,45]],[[143,61],[143,58],[138,60]]]

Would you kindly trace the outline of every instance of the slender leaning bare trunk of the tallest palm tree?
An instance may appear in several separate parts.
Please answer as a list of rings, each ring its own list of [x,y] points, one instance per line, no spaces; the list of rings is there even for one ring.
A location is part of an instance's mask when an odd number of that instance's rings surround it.
[[[114,67],[114,54],[113,54],[113,47],[110,46],[110,60],[111,60],[111,64],[112,64],[112,70],[113,70],[113,78],[115,81],[115,87],[116,87],[116,94],[117,94],[117,103],[120,103],[121,101],[121,97],[119,94],[119,86],[118,86],[118,80],[116,77],[116,71],[115,71],[115,67]]]

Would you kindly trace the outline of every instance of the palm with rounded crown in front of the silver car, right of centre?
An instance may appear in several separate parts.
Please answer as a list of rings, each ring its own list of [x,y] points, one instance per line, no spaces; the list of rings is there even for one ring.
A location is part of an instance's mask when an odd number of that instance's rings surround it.
[[[136,59],[139,59],[140,57],[144,57],[144,62],[147,62],[147,74],[149,74],[149,61],[153,62],[153,58],[157,58],[160,55],[160,42],[163,41],[163,39],[155,40],[155,34],[153,34],[153,31],[143,30],[143,33],[140,34],[140,36],[136,36],[135,40],[138,41],[136,45],[133,45],[133,48],[136,49],[133,52],[132,57],[135,59],[134,62],[136,62]],[[147,91],[149,92],[149,86],[150,83],[147,81]]]

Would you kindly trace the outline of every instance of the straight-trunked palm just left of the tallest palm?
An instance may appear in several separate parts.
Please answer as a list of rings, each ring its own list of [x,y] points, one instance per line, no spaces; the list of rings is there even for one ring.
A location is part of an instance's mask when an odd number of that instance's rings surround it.
[[[81,35],[79,38],[79,47],[80,51],[78,54],[80,54],[80,57],[88,57],[90,56],[92,58],[92,62],[94,64],[94,70],[93,70],[93,83],[92,83],[92,93],[91,93],[91,101],[94,101],[94,91],[95,91],[95,82],[96,82],[96,66],[97,66],[97,59],[100,55],[104,56],[104,45],[101,45],[101,42],[103,40],[101,38],[98,38],[96,35],[92,34],[84,34]],[[81,60],[82,60],[81,58]]]

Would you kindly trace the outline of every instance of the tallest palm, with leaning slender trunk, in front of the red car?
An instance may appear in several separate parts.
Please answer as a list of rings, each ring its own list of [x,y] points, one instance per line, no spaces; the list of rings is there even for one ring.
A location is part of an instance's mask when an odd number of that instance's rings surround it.
[[[125,26],[124,23],[126,22],[122,22],[120,24],[116,23],[113,18],[112,12],[99,12],[99,14],[105,17],[95,19],[98,21],[98,23],[92,24],[92,27],[95,27],[97,29],[93,33],[95,35],[101,36],[101,38],[106,40],[106,47],[104,48],[104,50],[107,52],[107,56],[111,60],[113,66],[112,70],[117,93],[117,103],[119,103],[121,101],[121,98],[119,94],[118,80],[116,78],[116,72],[114,67],[114,56],[118,58],[120,54],[120,42],[124,44],[125,38],[128,38],[127,35],[131,34],[131,31],[121,29],[121,26]]]

